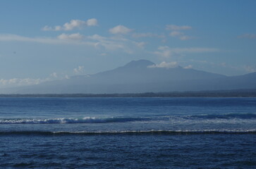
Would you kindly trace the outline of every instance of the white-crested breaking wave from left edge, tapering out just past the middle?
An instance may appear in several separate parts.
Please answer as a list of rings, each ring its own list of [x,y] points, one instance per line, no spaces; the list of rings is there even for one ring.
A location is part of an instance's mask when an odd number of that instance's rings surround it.
[[[123,123],[147,118],[52,118],[52,119],[0,119],[0,124],[73,124],[73,123]]]

